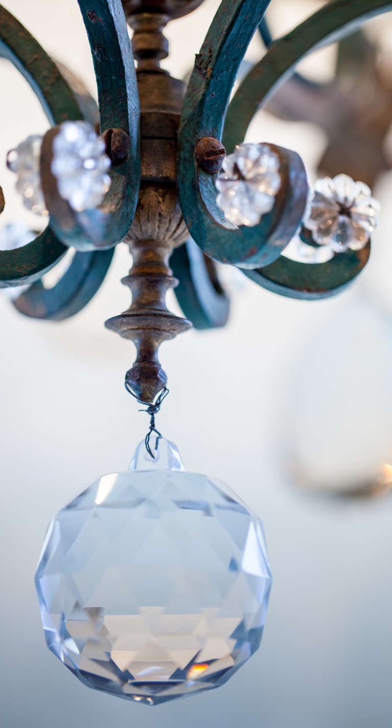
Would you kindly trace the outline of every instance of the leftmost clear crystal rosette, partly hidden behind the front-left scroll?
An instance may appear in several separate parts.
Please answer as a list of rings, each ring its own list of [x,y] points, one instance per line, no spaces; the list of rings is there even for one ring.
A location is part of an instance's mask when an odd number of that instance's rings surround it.
[[[7,165],[17,175],[15,187],[23,198],[23,205],[38,215],[47,215],[44,194],[41,189],[42,137],[30,135],[16,149],[7,154]]]

